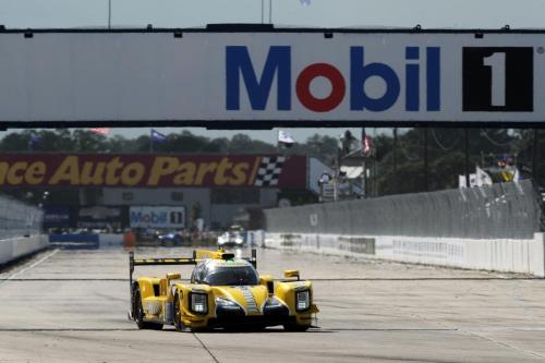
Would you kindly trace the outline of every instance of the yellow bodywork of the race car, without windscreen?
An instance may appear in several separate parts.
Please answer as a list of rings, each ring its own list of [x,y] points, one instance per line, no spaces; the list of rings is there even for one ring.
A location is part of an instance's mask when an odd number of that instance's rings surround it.
[[[222,264],[226,257],[231,257],[222,250],[195,251],[194,256],[196,264],[206,259]],[[141,277],[134,281],[134,288],[140,289],[142,318],[148,323],[192,330],[238,324],[283,325],[290,330],[306,330],[318,308],[313,303],[312,282],[299,280],[299,273],[296,278],[275,281],[271,276],[262,276],[258,285],[208,286],[181,282],[179,274],[168,274],[165,278]],[[301,292],[300,297],[304,298],[305,291],[308,291],[308,304],[298,310],[296,293]],[[195,312],[193,294],[198,295],[201,303],[206,300],[205,312]]]

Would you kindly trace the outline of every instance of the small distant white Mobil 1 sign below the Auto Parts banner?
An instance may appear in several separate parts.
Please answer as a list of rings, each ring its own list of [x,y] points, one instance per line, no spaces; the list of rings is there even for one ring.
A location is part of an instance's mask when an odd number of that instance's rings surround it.
[[[185,207],[132,206],[131,228],[185,228]]]

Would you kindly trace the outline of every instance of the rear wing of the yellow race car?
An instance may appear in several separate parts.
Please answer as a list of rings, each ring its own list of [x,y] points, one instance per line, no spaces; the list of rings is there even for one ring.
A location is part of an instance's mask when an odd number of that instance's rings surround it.
[[[157,266],[157,265],[196,265],[199,261],[206,258],[230,259],[234,254],[226,253],[223,250],[206,251],[194,250],[191,258],[134,258],[134,252],[129,253],[129,283],[132,289],[134,266]],[[257,251],[252,249],[251,257],[242,257],[257,268]],[[132,291],[132,290],[131,290]]]

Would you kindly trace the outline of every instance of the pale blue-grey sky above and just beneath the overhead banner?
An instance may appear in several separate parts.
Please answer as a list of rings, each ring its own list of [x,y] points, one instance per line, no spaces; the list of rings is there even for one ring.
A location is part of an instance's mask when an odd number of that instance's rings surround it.
[[[545,27],[545,0],[111,0],[116,27],[193,27],[209,23],[265,23],[313,27],[511,28]],[[304,2],[304,1],[303,1]],[[263,4],[263,8],[262,8]],[[262,12],[263,10],[263,12]],[[8,28],[97,27],[108,24],[108,0],[0,0],[0,24]],[[175,129],[165,129],[164,132]],[[190,129],[209,137],[238,132]],[[338,135],[341,130],[292,130],[304,141],[314,132]],[[126,136],[147,129],[124,130]],[[275,142],[276,132],[247,132]],[[358,131],[356,131],[358,134]]]

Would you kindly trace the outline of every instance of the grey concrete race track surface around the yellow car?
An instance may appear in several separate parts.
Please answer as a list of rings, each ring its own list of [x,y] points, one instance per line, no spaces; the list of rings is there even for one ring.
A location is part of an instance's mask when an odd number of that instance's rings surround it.
[[[314,280],[319,328],[148,331],[126,318],[126,252],[50,250],[0,271],[0,362],[545,362],[543,279],[258,250],[261,273],[289,268]]]

